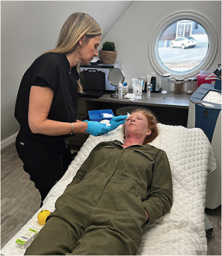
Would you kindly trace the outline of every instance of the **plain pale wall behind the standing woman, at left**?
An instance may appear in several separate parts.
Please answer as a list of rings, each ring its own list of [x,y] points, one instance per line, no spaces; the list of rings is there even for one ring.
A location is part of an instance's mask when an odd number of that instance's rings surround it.
[[[64,21],[89,13],[103,36],[133,1],[1,1],[1,148],[15,140],[14,107],[22,75],[41,53],[53,49]]]

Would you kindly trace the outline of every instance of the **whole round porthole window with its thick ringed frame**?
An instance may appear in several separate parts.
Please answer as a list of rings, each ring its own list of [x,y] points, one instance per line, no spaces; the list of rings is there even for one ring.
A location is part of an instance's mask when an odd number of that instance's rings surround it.
[[[178,12],[159,22],[149,43],[149,58],[159,75],[188,78],[207,69],[216,56],[218,36],[200,13]]]

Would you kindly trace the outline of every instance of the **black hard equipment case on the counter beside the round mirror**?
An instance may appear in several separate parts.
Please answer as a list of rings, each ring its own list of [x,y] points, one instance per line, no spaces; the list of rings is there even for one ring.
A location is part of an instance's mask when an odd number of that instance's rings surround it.
[[[87,69],[80,72],[83,93],[80,97],[100,98],[105,93],[105,73],[101,70]]]

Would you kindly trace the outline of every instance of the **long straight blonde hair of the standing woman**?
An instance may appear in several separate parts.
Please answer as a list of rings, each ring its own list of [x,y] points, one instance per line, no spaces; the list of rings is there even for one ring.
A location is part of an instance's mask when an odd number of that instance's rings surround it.
[[[94,37],[102,34],[100,25],[94,20],[89,14],[76,12],[70,15],[66,22],[64,22],[63,28],[59,34],[57,45],[55,49],[48,52],[56,53],[70,53],[77,51],[82,45],[86,44],[87,41]],[[85,40],[81,46],[78,41],[85,36]],[[77,71],[80,73],[79,65],[77,64]],[[80,81],[77,81],[78,92],[82,92],[82,86]]]

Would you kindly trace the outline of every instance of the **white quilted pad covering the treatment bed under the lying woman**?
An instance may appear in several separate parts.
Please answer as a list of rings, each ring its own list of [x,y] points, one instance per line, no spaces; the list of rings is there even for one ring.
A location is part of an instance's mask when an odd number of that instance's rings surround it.
[[[105,122],[105,121],[103,121]],[[159,135],[152,145],[165,150],[172,172],[173,205],[170,212],[147,224],[137,255],[207,255],[204,209],[207,173],[216,168],[211,144],[198,128],[158,124]],[[64,177],[45,198],[42,209],[54,211],[54,204],[75,176],[91,150],[101,141],[123,141],[122,125],[103,136],[89,136]],[[43,226],[37,215],[1,250],[3,255],[24,255],[25,250],[15,246],[16,239],[29,228]]]

